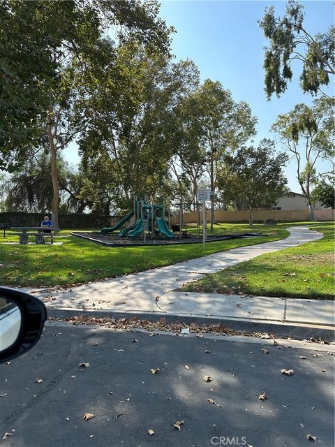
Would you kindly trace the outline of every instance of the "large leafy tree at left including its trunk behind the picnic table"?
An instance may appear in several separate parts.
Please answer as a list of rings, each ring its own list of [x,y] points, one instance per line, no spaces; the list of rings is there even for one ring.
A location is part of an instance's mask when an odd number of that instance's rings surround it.
[[[171,29],[154,0],[5,0],[0,24],[0,168],[20,168],[28,148],[50,150],[58,228],[57,151],[79,131],[75,107],[86,87],[84,73],[94,64],[103,71],[103,33],[117,27],[119,41],[140,41],[148,52],[168,54]],[[112,64],[113,52],[108,56]]]

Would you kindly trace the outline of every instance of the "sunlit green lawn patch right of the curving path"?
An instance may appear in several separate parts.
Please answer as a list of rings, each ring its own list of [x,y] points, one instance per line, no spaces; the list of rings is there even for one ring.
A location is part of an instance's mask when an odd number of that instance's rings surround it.
[[[183,290],[334,300],[334,223],[308,226],[325,236],[209,274]]]

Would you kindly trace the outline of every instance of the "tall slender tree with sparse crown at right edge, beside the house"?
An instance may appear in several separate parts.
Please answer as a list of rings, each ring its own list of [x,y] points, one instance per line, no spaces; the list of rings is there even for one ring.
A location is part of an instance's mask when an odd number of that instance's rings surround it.
[[[298,104],[291,112],[278,115],[271,127],[285,151],[295,160],[297,180],[306,197],[311,220],[314,220],[313,182],[332,171],[316,175],[318,161],[334,161],[334,105],[334,99],[324,97],[313,101],[311,107]]]

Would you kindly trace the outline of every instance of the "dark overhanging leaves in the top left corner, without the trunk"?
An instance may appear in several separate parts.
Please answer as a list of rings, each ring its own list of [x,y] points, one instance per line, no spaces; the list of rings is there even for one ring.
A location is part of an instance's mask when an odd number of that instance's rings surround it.
[[[8,170],[40,136],[39,122],[64,82],[62,67],[75,57],[84,71],[108,27],[119,25],[120,39],[141,39],[165,53],[170,48],[171,30],[154,0],[3,0],[0,25],[0,168]]]

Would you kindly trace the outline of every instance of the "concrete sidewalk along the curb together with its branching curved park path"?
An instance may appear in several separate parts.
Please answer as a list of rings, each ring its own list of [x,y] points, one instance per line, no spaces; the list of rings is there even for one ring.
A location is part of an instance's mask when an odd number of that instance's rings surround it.
[[[204,274],[218,272],[255,256],[305,244],[323,235],[306,227],[291,227],[285,240],[222,251],[164,268],[129,274],[107,281],[74,286],[65,291],[36,293],[47,307],[62,312],[102,311],[112,314],[163,314],[188,318],[215,317],[221,320],[266,321],[302,325],[334,325],[334,302],[286,300],[267,297],[242,297],[176,292],[175,289]],[[29,291],[29,289],[26,289]],[[51,312],[51,314],[60,314]],[[73,314],[73,312],[70,312]]]

